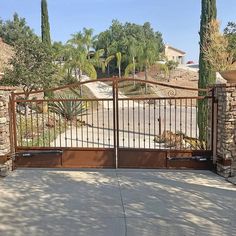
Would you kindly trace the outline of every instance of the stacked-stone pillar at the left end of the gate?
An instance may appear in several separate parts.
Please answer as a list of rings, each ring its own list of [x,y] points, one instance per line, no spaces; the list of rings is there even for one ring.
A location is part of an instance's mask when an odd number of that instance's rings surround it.
[[[9,93],[0,92],[0,176],[12,170],[8,96]]]

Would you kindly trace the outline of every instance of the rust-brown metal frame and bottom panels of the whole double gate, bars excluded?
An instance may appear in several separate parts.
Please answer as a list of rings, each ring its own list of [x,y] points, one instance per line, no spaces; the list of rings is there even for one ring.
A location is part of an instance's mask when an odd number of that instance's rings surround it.
[[[127,79],[127,78],[106,78],[100,79],[101,82],[112,83],[113,98],[110,100],[113,103],[113,148],[64,148],[64,147],[20,147],[17,145],[17,127],[16,127],[16,103],[22,102],[17,99],[17,96],[24,93],[12,93],[12,123],[13,123],[13,139],[16,153],[16,166],[23,167],[66,167],[66,168],[211,168],[212,166],[212,149],[210,150],[176,150],[176,149],[148,149],[148,148],[122,148],[119,143],[119,102],[122,98],[119,97],[119,83],[124,81],[136,81],[144,84],[153,84],[166,86],[173,89],[186,89],[192,91],[209,92],[208,89],[194,89],[173,85],[166,85],[159,82]],[[97,81],[85,81],[68,86],[61,86],[54,89],[34,91],[30,94],[36,94],[46,91],[56,91],[64,88],[78,87],[87,83]],[[198,99],[199,97],[195,97]],[[213,103],[213,95],[206,96]],[[142,99],[142,98],[138,98]],[[146,99],[154,99],[153,97]],[[165,98],[163,98],[165,99]],[[170,99],[170,98],[168,98]],[[95,99],[99,100],[99,99]],[[46,101],[46,100],[45,100]],[[48,101],[48,100],[47,100]],[[27,102],[27,101],[26,101]],[[212,117],[214,113],[212,106]],[[213,119],[212,119],[213,120]],[[211,132],[213,132],[214,124],[212,122]],[[213,140],[213,134],[211,134]],[[212,141],[213,142],[213,141]],[[46,157],[43,158],[42,156]],[[207,157],[204,162],[201,162],[201,157]],[[199,160],[196,157],[200,157]],[[104,161],[107,158],[107,162]],[[99,162],[99,160],[100,162]],[[101,161],[101,159],[104,159]],[[106,163],[105,163],[106,162]],[[67,164],[65,164],[67,163]],[[104,164],[105,163],[105,164]]]

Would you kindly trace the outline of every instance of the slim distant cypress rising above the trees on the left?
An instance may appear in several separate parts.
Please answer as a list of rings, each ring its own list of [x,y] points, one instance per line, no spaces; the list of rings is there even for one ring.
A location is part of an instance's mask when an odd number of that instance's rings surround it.
[[[43,43],[50,46],[51,37],[50,37],[50,26],[49,26],[49,19],[48,19],[47,0],[41,1],[41,33],[42,33]]]

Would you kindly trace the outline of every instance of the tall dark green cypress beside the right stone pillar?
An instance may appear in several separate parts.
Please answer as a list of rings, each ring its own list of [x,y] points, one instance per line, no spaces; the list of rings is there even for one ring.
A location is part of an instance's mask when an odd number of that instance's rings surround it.
[[[199,81],[198,88],[207,88],[209,84],[214,84],[216,75],[211,65],[204,59],[203,47],[207,43],[205,40],[207,26],[211,20],[216,19],[216,0],[202,0],[201,22],[200,22],[200,55],[199,55]],[[205,92],[199,92],[199,96],[205,96]],[[206,141],[207,129],[207,101],[198,102],[198,127],[199,139]]]

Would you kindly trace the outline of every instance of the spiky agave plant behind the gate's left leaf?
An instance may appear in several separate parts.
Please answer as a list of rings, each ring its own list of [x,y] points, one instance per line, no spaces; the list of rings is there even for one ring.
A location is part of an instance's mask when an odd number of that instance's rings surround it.
[[[49,104],[49,109],[69,121],[73,121],[79,115],[85,114],[87,108],[85,104],[78,100],[74,94],[61,94],[56,97],[57,101]]]

